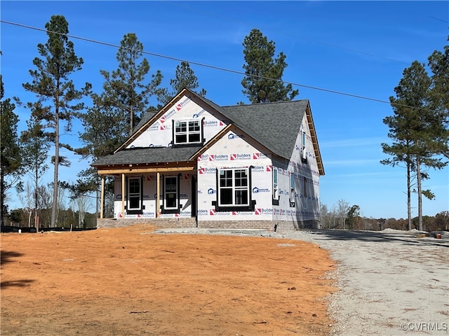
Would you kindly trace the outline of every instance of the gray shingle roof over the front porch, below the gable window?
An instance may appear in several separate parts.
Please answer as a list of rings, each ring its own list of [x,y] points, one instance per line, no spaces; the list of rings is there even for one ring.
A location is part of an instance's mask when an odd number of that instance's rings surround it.
[[[92,166],[141,165],[158,162],[187,162],[201,146],[129,148],[93,162]]]

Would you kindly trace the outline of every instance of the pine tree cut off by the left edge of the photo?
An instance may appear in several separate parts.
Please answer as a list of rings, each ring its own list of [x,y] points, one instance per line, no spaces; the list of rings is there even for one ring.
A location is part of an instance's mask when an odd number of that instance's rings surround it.
[[[4,225],[6,214],[6,195],[13,186],[21,188],[20,174],[22,167],[22,155],[17,135],[18,116],[14,113],[15,105],[11,99],[4,98],[4,84],[0,75],[0,216],[1,225]]]

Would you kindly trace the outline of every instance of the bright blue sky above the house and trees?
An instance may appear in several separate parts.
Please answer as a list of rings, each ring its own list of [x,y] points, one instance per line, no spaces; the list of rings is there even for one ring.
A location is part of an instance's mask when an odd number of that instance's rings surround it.
[[[389,104],[316,90],[388,102],[403,70],[414,60],[427,64],[434,50],[448,43],[447,1],[1,1],[1,20],[43,29],[51,15],[64,15],[69,34],[119,45],[135,33],[146,52],[243,71],[243,39],[257,28],[284,52],[288,64],[283,80],[296,83],[297,99],[309,99],[326,172],[321,177],[321,203],[338,200],[358,204],[373,218],[406,218],[406,171],[380,164],[387,158],[380,144],[389,142],[382,119],[393,112]],[[1,22],[1,73],[5,97],[34,101],[22,83],[38,56],[36,45],[47,35]],[[88,81],[100,93],[100,69],[116,69],[116,48],[72,39],[83,69],[73,78]],[[151,73],[161,70],[163,86],[175,76],[179,61],[145,55]],[[241,90],[242,75],[192,65],[206,97],[225,106],[248,102]],[[89,103],[89,102],[88,102]],[[29,111],[16,108],[19,131]],[[62,142],[78,146],[79,124]],[[269,125],[267,125],[269,130]],[[60,168],[60,179],[76,181],[90,162],[64,153],[72,167]],[[53,168],[53,167],[52,167]],[[434,216],[449,209],[449,168],[429,171],[424,181],[436,200],[423,203]],[[53,180],[50,169],[46,179]],[[10,209],[20,207],[14,193]],[[413,195],[413,216],[417,216]],[[16,204],[16,206],[15,206]]]

